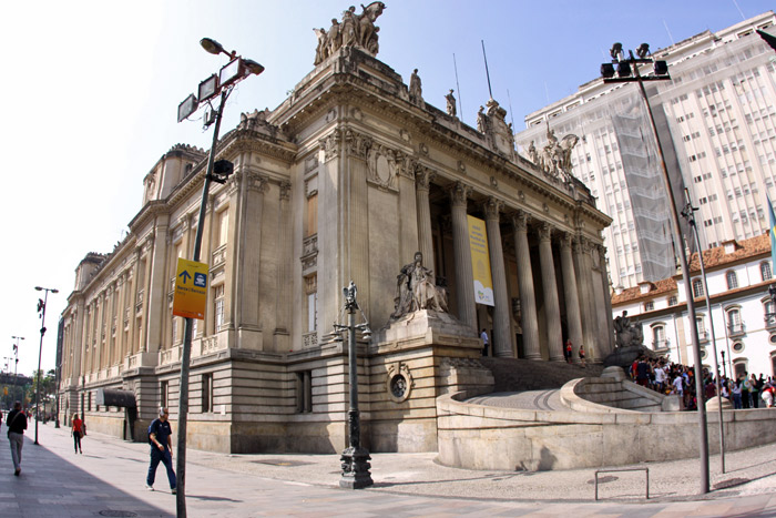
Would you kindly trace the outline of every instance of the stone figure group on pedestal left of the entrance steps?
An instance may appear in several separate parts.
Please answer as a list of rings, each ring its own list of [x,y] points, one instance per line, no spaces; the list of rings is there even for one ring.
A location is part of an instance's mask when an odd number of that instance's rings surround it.
[[[415,253],[415,261],[401,267],[396,277],[396,297],[394,298],[391,319],[420,309],[447,313],[447,292],[437,286],[433,273],[423,266],[423,254]]]

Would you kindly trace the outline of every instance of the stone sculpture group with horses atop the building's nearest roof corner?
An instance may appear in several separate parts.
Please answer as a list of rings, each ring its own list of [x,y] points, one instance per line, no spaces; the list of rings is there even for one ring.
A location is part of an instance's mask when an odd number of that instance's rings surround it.
[[[328,32],[324,28],[313,29],[318,39],[314,64],[323,63],[341,47],[355,47],[371,57],[377,55],[379,49],[377,33],[380,28],[375,27],[375,21],[382,14],[385,8],[386,4],[382,2],[371,2],[367,7],[361,4],[361,13],[356,14],[356,7],[350,6],[343,12],[341,23],[336,18],[331,19]]]

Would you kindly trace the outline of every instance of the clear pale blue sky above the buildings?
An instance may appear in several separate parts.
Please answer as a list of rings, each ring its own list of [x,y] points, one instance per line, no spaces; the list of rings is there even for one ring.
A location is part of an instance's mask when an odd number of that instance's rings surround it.
[[[645,41],[654,50],[773,9],[760,0],[385,3],[377,21],[378,59],[405,82],[419,69],[423,98],[439,108],[456,89],[459,114],[474,125],[478,108],[489,98],[484,40],[493,98],[517,130],[528,113],[594,79],[614,41],[630,49]],[[37,367],[35,285],[60,290],[49,297],[43,347],[43,368],[53,368],[57,321],[79,261],[88,252],[110,252],[122,238],[140,210],[143,176],[164,152],[178,142],[210,145],[211,133],[200,122],[178,124],[175,118],[177,104],[225,64],[223,57],[203,51],[198,40],[214,38],[266,68],[233,93],[222,128],[226,132],[241,112],[274,109],[285,99],[313,69],[313,28],[328,29],[349,4],[7,2],[0,20],[6,69],[0,81],[6,100],[0,368],[11,356],[12,335],[27,338],[20,373]]]

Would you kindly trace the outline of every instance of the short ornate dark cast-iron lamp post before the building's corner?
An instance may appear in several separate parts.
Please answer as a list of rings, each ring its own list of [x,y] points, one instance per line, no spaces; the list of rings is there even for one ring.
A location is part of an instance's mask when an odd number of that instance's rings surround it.
[[[348,444],[349,447],[343,451],[340,458],[343,463],[343,477],[339,479],[339,487],[348,489],[363,489],[375,484],[371,479],[369,468],[369,450],[361,447],[361,424],[358,412],[358,363],[356,355],[356,331],[364,333],[364,337],[369,339],[371,331],[364,312],[361,317],[364,323],[356,324],[356,311],[361,311],[356,302],[356,285],[353,281],[348,287],[343,288],[345,295],[345,311],[348,313],[348,324],[334,324],[336,333],[348,333],[348,384],[350,385],[350,408],[348,409]]]

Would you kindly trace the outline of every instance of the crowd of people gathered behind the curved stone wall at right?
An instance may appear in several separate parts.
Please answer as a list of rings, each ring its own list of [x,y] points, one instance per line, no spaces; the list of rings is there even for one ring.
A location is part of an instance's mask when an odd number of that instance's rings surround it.
[[[665,395],[677,395],[683,408],[697,409],[697,390],[695,382],[695,368],[682,364],[675,364],[664,357],[647,358],[640,356],[631,365],[630,373],[635,383]],[[733,408],[770,408],[776,399],[776,380],[772,376],[767,378],[743,373],[729,378],[719,376],[722,397],[728,399]],[[703,370],[703,400],[708,400],[717,395],[717,379],[712,373]]]

